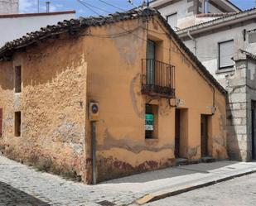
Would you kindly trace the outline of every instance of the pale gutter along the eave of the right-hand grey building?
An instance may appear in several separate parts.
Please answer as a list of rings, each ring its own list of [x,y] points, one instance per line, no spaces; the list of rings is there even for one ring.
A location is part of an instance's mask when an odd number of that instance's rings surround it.
[[[210,22],[205,22],[196,26],[187,27],[182,29],[181,31],[176,31],[176,34],[182,38],[182,37],[188,36],[187,31],[190,31],[191,34],[195,35],[204,31],[212,31],[213,29],[216,29],[222,26],[230,26],[231,24],[244,22],[244,21],[253,19],[255,17],[256,17],[256,9],[251,9],[248,12],[240,12],[233,16],[221,17],[221,18],[212,20]]]

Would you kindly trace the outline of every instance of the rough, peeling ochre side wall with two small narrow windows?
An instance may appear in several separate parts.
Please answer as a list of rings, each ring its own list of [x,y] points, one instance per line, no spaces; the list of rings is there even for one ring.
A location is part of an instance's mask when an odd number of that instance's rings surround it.
[[[85,180],[86,63],[74,38],[49,40],[0,62],[0,108],[5,156]],[[22,93],[14,93],[14,67],[22,66]],[[14,112],[22,136],[14,137]]]

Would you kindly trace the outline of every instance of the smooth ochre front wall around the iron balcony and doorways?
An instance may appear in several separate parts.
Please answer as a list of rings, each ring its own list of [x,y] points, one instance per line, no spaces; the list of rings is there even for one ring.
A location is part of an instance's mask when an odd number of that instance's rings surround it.
[[[159,44],[157,60],[176,66],[176,97],[182,102],[179,108],[187,109],[183,131],[186,147],[182,152],[189,160],[200,160],[200,114],[212,114],[214,89],[177,43],[170,41],[157,18],[149,22],[148,33],[143,27],[146,23],[142,20],[91,27],[84,39],[89,68],[87,101],[99,103],[99,122],[96,123],[99,181],[175,164],[175,108],[171,108],[165,98],[152,100],[141,93],[147,38]],[[125,31],[132,34],[106,37]],[[149,102],[159,105],[158,139],[145,140],[145,103]],[[224,159],[227,158],[225,95],[216,88],[215,107],[215,115],[209,117],[209,151],[215,158]],[[89,137],[88,118],[86,129]],[[86,146],[90,146],[90,138],[86,141]],[[86,152],[89,157],[90,148],[86,147]],[[89,168],[89,164],[87,166]],[[89,178],[91,170],[88,172]]]

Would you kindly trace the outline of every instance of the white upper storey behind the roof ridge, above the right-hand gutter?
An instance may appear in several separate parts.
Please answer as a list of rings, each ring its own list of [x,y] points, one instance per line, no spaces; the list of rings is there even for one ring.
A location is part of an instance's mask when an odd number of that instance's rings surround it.
[[[215,17],[199,17],[201,13],[215,13],[225,16],[225,13],[241,12],[228,0],[153,0],[150,7],[161,12],[171,27],[178,31],[201,22],[208,22]]]

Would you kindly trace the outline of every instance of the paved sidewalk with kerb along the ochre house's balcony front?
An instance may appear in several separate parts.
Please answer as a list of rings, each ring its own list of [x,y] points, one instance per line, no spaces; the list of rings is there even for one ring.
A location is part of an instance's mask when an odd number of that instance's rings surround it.
[[[147,194],[136,202],[145,204],[254,172],[256,162],[225,160],[172,167],[111,180],[105,184],[118,187],[120,191],[125,188]]]

